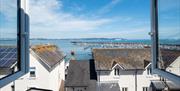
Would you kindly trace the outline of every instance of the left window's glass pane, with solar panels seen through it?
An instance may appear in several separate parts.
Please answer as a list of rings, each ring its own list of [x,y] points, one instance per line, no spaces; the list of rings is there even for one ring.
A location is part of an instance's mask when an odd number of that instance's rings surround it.
[[[17,0],[0,0],[0,79],[18,71]]]

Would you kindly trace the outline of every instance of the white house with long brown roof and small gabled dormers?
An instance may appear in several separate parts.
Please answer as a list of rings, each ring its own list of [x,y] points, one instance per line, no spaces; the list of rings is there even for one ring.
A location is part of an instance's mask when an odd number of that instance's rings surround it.
[[[93,49],[98,91],[149,91],[150,49]],[[116,89],[115,89],[116,88]]]

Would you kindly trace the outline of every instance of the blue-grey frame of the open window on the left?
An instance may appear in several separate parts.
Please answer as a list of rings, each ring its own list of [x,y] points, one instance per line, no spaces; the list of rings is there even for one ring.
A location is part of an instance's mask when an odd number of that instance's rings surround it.
[[[29,16],[28,0],[17,0],[17,40],[19,71],[0,79],[0,88],[29,72]]]

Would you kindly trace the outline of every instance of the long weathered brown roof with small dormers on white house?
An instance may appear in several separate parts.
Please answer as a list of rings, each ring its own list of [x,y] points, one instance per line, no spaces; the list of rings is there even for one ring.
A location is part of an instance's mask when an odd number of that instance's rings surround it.
[[[151,58],[149,48],[143,49],[93,49],[96,70],[111,70],[116,64],[123,69],[144,69]]]

